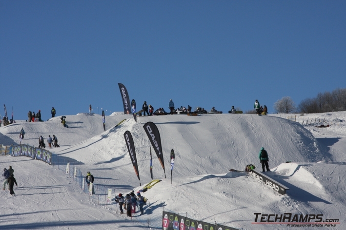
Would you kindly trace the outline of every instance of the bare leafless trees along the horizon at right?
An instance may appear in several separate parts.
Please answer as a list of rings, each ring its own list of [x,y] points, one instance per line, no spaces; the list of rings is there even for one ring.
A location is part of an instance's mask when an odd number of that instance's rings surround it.
[[[284,96],[274,103],[274,110],[280,114],[317,114],[346,111],[346,88],[318,93],[316,97],[302,100],[298,106],[295,105],[290,96]]]

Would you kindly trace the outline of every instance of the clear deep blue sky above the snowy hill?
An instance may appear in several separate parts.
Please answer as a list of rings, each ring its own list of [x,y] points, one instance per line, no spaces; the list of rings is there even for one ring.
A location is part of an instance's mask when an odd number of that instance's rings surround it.
[[[0,0],[0,105],[42,119],[191,105],[273,113],[346,87],[345,0]],[[0,114],[4,115],[3,109]]]

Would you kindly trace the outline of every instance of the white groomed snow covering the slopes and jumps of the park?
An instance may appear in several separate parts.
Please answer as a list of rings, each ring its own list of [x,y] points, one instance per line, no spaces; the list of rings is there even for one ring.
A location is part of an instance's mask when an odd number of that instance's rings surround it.
[[[323,214],[324,219],[339,219],[340,224],[329,228],[344,229],[346,112],[296,115],[295,119],[283,114],[164,115],[137,117],[136,123],[133,115],[117,112],[106,116],[105,132],[101,115],[84,113],[66,115],[68,129],[62,127],[60,117],[1,126],[2,145],[19,144],[21,128],[25,130],[22,143],[36,147],[40,135],[47,143],[48,135],[55,134],[60,148],[46,145],[46,149],[65,163],[70,161],[84,176],[90,171],[100,190],[96,193],[101,195],[84,194],[79,181],[64,174],[64,165],[1,156],[2,168],[11,165],[15,170],[18,187],[14,187],[16,196],[0,193],[0,229],[137,230],[149,229],[148,219],[150,228],[161,229],[163,210],[240,229],[290,228],[252,224],[254,213],[259,212]],[[126,194],[151,181],[151,145],[143,129],[147,121],[154,122],[160,131],[165,173],[152,150],[154,179],[162,181],[142,193],[150,205],[144,215],[137,211],[131,220],[117,213],[114,201],[105,206],[104,196],[108,188],[114,196],[114,190]],[[316,127],[321,124],[330,126]],[[125,145],[127,130],[135,142],[141,181]],[[246,173],[228,171],[244,170],[247,164],[260,171],[261,147],[269,154],[271,172],[267,174],[288,187],[287,194],[275,192]],[[176,154],[172,183],[171,149]]]

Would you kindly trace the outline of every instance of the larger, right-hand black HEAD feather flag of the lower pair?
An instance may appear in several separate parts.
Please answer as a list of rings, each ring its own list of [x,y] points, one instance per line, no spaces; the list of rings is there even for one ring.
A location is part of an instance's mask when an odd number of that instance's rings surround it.
[[[159,158],[159,161],[160,161],[161,166],[163,168],[164,178],[166,178],[166,172],[164,171],[164,161],[163,161],[161,137],[160,137],[159,130],[156,127],[156,125],[151,121],[146,122],[144,124],[143,128],[144,128],[145,133],[149,137],[150,143],[153,146],[157,157]]]

